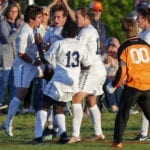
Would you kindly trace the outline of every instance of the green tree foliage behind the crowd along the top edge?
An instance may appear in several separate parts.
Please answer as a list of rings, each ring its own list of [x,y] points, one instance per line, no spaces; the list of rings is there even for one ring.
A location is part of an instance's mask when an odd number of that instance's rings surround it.
[[[48,5],[52,0],[35,0],[37,4]],[[68,0],[71,8],[75,9],[80,6],[88,7],[92,0]],[[101,0],[104,11],[101,17],[107,36],[117,36],[121,41],[124,37],[120,29],[119,20],[127,16],[133,9],[133,0]]]

